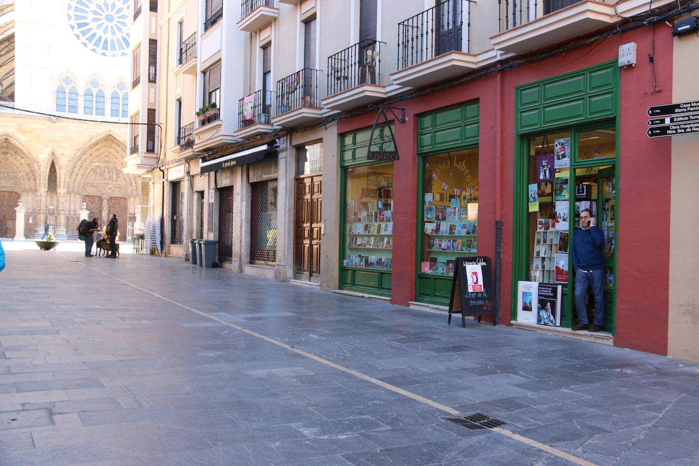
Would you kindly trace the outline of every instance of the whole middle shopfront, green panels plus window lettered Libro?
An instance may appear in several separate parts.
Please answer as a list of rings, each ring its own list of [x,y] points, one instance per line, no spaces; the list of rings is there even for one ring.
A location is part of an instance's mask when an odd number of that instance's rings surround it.
[[[479,105],[419,115],[415,298],[447,305],[456,257],[478,250]]]

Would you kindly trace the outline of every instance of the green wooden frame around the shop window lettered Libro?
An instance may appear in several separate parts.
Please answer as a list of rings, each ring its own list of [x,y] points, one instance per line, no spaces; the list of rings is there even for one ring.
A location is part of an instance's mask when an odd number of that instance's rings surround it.
[[[417,117],[417,229],[415,235],[415,300],[449,305],[452,277],[435,277],[420,271],[424,223],[424,163],[426,156],[478,147],[480,103],[468,101]]]

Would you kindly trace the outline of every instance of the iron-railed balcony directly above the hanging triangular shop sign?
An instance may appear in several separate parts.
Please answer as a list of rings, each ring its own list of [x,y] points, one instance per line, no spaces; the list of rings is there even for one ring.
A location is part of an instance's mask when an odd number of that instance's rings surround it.
[[[365,39],[328,57],[324,106],[347,110],[386,96],[381,75],[382,45],[386,43]]]

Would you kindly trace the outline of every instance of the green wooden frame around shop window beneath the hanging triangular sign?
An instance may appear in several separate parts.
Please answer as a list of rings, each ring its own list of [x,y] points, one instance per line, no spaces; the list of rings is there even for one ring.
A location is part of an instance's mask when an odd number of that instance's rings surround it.
[[[391,124],[393,126],[393,124]],[[377,126],[375,137],[382,140],[384,132],[388,133],[387,126]],[[371,166],[386,161],[367,161],[366,152],[369,147],[371,129],[361,129],[340,136],[340,276],[338,287],[341,290],[367,293],[375,296],[391,296],[391,270],[371,269],[360,267],[347,267],[342,261],[345,256],[347,235],[345,234],[345,217],[347,205],[347,168],[359,166]],[[375,147],[375,150],[395,150],[395,147]]]

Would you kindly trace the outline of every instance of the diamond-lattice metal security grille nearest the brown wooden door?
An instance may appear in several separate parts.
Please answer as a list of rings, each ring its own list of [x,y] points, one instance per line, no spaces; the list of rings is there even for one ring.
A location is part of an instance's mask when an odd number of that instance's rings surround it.
[[[250,262],[277,261],[277,180],[250,184]]]

